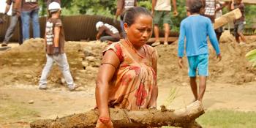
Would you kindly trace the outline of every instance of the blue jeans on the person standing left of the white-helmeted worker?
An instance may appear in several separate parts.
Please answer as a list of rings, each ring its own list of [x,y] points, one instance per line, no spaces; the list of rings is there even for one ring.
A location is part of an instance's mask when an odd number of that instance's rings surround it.
[[[21,13],[21,20],[22,20],[22,27],[23,27],[23,41],[30,38],[30,18],[32,18],[33,23],[33,37],[38,38],[40,37],[40,28],[39,28],[39,17],[38,17],[38,10],[31,10],[31,11],[23,11]]]

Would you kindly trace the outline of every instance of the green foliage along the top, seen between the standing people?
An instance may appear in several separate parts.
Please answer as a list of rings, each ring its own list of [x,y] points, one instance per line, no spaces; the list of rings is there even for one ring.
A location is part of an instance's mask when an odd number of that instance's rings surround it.
[[[46,14],[45,0],[39,0],[41,7],[40,15]],[[116,13],[116,1],[117,0],[61,0],[62,15],[105,15],[113,18]],[[187,11],[185,8],[186,0],[178,0],[177,10],[178,16],[171,16],[173,25],[171,26],[172,31],[179,31],[181,20],[187,17]],[[138,0],[138,6],[146,7],[151,11],[151,0]],[[223,10],[224,13],[228,12],[227,8]],[[256,6],[246,4],[246,28],[250,28],[255,25]]]

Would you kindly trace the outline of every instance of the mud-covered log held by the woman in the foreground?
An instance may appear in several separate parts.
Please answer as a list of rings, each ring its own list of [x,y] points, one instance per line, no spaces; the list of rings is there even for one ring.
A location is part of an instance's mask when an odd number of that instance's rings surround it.
[[[201,102],[196,101],[186,108],[178,110],[167,110],[162,107],[161,110],[124,110],[110,109],[111,121],[115,128],[118,127],[196,127],[200,125],[195,122],[195,118],[204,113]],[[37,120],[30,124],[31,128],[94,128],[97,123],[99,113],[97,110],[90,110],[86,113],[74,114],[54,120]]]

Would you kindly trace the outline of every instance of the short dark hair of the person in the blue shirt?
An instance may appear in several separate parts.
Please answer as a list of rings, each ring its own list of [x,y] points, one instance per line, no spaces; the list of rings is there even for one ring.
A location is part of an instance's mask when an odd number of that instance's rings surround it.
[[[188,7],[189,7],[189,12],[199,13],[201,8],[203,7],[203,1],[202,0],[190,0]]]

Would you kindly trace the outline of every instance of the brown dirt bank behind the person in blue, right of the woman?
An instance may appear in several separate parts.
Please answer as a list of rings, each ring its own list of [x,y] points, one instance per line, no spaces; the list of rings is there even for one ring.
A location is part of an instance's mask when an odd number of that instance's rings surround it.
[[[225,40],[225,39],[222,39]],[[242,84],[256,80],[256,69],[244,57],[247,52],[256,48],[255,38],[248,44],[238,45],[236,42],[221,42],[222,61],[217,61],[214,48],[209,45],[209,77],[213,83]],[[158,80],[171,79],[177,84],[187,84],[187,59],[185,68],[179,69],[177,49],[178,42],[172,45],[157,47],[159,53]]]

